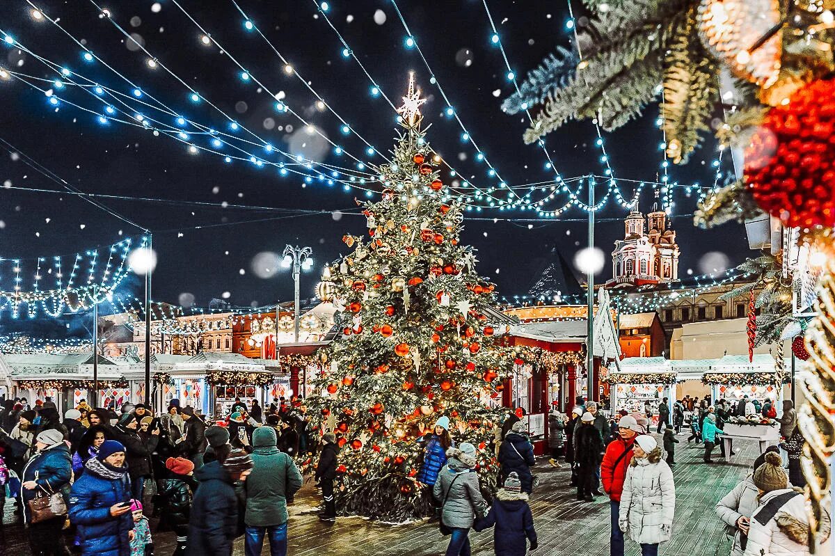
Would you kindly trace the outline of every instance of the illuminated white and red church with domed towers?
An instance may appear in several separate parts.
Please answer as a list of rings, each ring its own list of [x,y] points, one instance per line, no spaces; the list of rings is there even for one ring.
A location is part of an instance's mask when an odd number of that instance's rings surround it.
[[[616,240],[612,251],[612,279],[606,287],[677,281],[676,232],[668,228],[667,215],[658,210],[658,204],[653,205],[646,219],[638,210],[632,210],[624,225],[624,239]]]

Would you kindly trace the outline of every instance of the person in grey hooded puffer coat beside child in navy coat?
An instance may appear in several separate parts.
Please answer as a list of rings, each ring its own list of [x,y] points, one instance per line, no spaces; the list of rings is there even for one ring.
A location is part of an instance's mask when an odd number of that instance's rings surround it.
[[[514,423],[514,427],[517,425],[519,423]],[[502,448],[512,436],[509,432]],[[487,503],[478,487],[475,464],[476,450],[469,442],[463,442],[458,448],[449,448],[447,464],[441,469],[433,487],[433,496],[441,503],[441,521],[452,531],[447,556],[466,556],[470,553],[469,530],[475,518],[487,511]],[[524,490],[524,484],[521,488]]]

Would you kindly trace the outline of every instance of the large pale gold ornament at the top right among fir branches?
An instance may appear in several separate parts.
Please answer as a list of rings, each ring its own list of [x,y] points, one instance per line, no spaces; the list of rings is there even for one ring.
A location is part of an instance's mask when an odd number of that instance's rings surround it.
[[[753,52],[749,51],[780,22],[782,16],[777,0],[703,0],[699,18],[701,42],[733,73],[761,88],[777,82],[782,31]]]

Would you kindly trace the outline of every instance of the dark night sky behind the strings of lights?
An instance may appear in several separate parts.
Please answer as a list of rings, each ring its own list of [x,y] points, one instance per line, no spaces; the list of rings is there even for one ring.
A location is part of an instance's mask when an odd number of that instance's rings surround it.
[[[189,92],[182,84],[162,68],[149,68],[144,53],[127,48],[124,37],[112,23],[99,18],[89,0],[33,3],[50,17],[60,18],[59,23],[69,33],[83,39],[99,57],[177,114],[218,129],[225,125],[225,119],[211,110],[207,102],[190,103]],[[428,139],[433,148],[452,160],[467,177],[473,175],[473,182],[495,184],[496,180],[486,175],[487,167],[475,160],[476,150],[461,141],[462,129],[442,114],[445,104],[438,89],[429,83],[430,75],[417,51],[404,47],[407,33],[392,3],[334,0],[329,4],[328,15],[333,24],[396,104],[400,104],[405,93],[408,72],[416,72],[417,83],[428,97],[423,107],[424,126],[432,124]],[[397,4],[438,83],[503,179],[511,185],[552,179],[552,174],[544,169],[544,154],[522,142],[524,121],[499,109],[501,101],[513,92],[513,86],[506,78],[498,48],[490,45],[492,31],[481,1],[401,0]],[[341,124],[331,113],[316,109],[316,98],[298,78],[286,75],[284,63],[261,38],[245,30],[244,19],[230,0],[181,0],[180,5],[212,38],[228,48],[253,78],[260,79],[273,92],[282,91],[283,102],[296,113],[358,158],[381,161],[379,156],[366,156],[365,145],[353,134],[343,135]],[[239,5],[333,109],[369,142],[387,152],[394,136],[395,114],[382,98],[372,97],[371,83],[357,63],[343,58],[342,43],[321,15],[316,15],[314,3],[239,0]],[[564,4],[488,0],[488,6],[519,76],[539,64],[556,44],[569,42]],[[262,139],[277,148],[304,152],[311,159],[329,164],[349,161],[344,155],[333,154],[333,149],[316,136],[305,135],[293,116],[276,113],[275,99],[266,92],[259,93],[252,80],[244,82],[240,68],[214,45],[201,44],[198,28],[171,0],[119,0],[106,7],[112,11],[114,22],[129,33],[137,33],[141,37],[137,40],[160,63]],[[53,24],[33,19],[31,11],[23,0],[4,3],[0,28],[35,53],[129,94],[131,88],[124,80],[102,63],[85,63],[81,48]],[[56,78],[32,55],[21,55],[17,48],[6,44],[0,47],[0,65],[36,78]],[[68,98],[78,99],[78,104],[98,106],[99,111],[102,108],[89,94],[72,94]],[[185,144],[154,137],[149,130],[137,127],[101,125],[94,114],[67,104],[61,104],[55,112],[43,93],[13,79],[0,81],[0,99],[0,144],[8,142],[13,145],[12,150],[31,157],[86,193],[171,201],[98,199],[154,231],[154,250],[159,260],[154,272],[154,300],[190,301],[190,296],[182,296],[189,293],[197,306],[207,306],[211,299],[228,292],[227,301],[235,306],[287,301],[292,296],[289,272],[281,270],[262,278],[252,270],[257,254],[280,253],[287,243],[310,245],[314,250],[316,271],[302,279],[302,296],[312,296],[321,265],[346,252],[342,235],[365,230],[362,217],[331,215],[335,210],[356,210],[354,198],[362,192],[345,192],[338,185],[323,184],[303,189],[301,178],[281,177],[275,168],[259,169],[243,161],[225,164],[221,157],[205,152],[190,154]],[[616,176],[656,179],[662,155],[658,149],[661,137],[655,127],[656,114],[657,108],[650,106],[640,121],[604,135]],[[595,139],[594,126],[588,122],[566,125],[547,137],[554,164],[565,178],[603,173],[600,151],[593,144]],[[0,148],[0,182],[4,185],[0,189],[0,256],[4,259],[73,254],[96,245],[110,245],[124,235],[141,235],[136,227],[77,196],[13,189],[61,190],[61,186],[24,164],[25,156],[10,154],[9,150]],[[671,179],[684,184],[712,184],[710,162],[714,158],[714,145],[707,140],[703,149],[691,157],[690,164],[671,169]],[[600,185],[599,195],[603,189]],[[624,193],[631,195],[630,188],[625,187]],[[707,257],[707,268],[700,266],[709,252],[726,255],[730,265],[738,264],[749,254],[741,226],[696,230],[691,223],[695,199],[678,190],[675,200],[674,227],[681,245],[681,277],[686,277],[687,269],[695,274],[712,270],[711,265],[716,264],[711,261],[717,259],[716,255]],[[190,205],[185,201],[210,205]],[[275,210],[222,207],[223,202],[321,210],[322,214],[286,218],[288,214]],[[641,209],[648,210],[652,202],[647,188]],[[485,210],[469,215],[476,218],[465,221],[463,240],[478,248],[479,270],[496,281],[499,293],[506,296],[528,290],[554,244],[570,259],[586,241],[585,214],[578,209],[547,222],[492,220],[530,219],[534,215],[531,211]],[[607,261],[613,241],[623,235],[623,215],[624,211],[615,204],[599,214],[602,220],[617,219],[600,222],[595,229],[596,245],[607,253]],[[195,226],[206,227],[197,230]],[[721,256],[718,260],[721,263]],[[31,264],[32,261],[24,262],[24,267]],[[8,261],[0,263],[0,281],[7,285],[9,272]],[[600,278],[608,278],[610,272],[607,265]],[[139,285],[140,281],[134,280],[125,284],[125,291],[139,295]]]

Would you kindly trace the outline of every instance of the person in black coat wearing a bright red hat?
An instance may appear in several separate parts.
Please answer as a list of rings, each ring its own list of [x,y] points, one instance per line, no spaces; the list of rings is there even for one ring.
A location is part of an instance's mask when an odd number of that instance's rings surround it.
[[[177,536],[174,556],[182,556],[188,545],[191,501],[197,488],[192,476],[195,464],[185,457],[169,457],[165,470],[167,476],[159,480],[154,508],[159,508],[159,530],[174,531]]]

